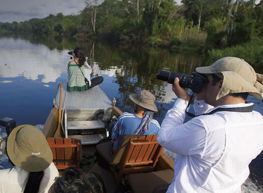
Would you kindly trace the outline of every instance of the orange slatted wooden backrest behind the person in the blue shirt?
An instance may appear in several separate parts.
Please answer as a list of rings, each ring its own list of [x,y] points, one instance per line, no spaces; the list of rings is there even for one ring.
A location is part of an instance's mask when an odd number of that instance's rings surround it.
[[[163,149],[156,138],[149,135],[130,139],[120,160],[117,185],[123,174],[153,171]]]

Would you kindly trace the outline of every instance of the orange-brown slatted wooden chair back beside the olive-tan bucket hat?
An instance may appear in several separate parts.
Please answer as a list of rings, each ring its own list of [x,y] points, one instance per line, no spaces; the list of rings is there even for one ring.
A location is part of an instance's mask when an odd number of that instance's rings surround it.
[[[72,138],[47,138],[57,170],[80,168],[81,140]]]

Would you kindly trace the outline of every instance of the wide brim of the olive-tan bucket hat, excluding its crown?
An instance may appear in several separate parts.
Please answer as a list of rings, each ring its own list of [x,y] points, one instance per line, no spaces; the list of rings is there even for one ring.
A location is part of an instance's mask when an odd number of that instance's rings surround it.
[[[15,127],[14,130],[12,130],[12,132],[8,136],[8,140],[7,140],[8,157],[10,158],[11,162],[15,166],[25,171],[28,172],[43,171],[46,168],[48,168],[52,163],[52,159],[53,159],[52,152],[50,148],[46,148],[44,151],[41,152],[39,156],[34,156],[34,155],[28,155],[23,151],[20,151],[19,146],[16,144],[16,135],[17,132],[24,126],[32,126],[32,125],[27,125],[27,124],[19,125]],[[37,127],[36,129],[39,130]],[[40,130],[39,132],[41,135],[43,135]],[[49,147],[47,141],[43,145]]]

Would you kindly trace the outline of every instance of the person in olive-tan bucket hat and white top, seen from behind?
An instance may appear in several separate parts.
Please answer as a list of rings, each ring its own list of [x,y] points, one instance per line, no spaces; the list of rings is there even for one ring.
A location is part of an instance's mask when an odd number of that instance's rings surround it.
[[[12,130],[7,155],[14,168],[0,170],[0,192],[48,192],[59,175],[47,140],[35,126],[24,124]]]

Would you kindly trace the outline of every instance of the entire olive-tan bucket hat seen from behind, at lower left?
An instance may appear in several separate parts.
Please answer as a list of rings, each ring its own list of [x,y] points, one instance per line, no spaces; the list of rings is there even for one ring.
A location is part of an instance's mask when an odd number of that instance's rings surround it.
[[[11,162],[28,172],[40,172],[49,167],[53,155],[43,133],[33,125],[14,128],[7,140]]]

